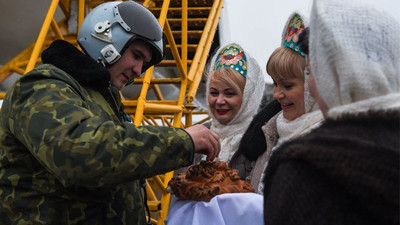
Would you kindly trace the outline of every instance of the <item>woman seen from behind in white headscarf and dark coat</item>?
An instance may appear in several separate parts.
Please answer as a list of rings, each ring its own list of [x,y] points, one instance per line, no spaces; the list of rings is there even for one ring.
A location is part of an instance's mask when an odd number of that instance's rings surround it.
[[[309,86],[326,121],[272,156],[265,224],[399,224],[400,24],[376,8],[314,1]]]

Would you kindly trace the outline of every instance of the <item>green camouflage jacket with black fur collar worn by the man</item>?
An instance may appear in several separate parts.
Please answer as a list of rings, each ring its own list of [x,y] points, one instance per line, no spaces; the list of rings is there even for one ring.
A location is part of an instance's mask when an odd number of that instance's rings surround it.
[[[1,108],[0,224],[144,224],[139,179],[190,165],[190,136],[125,122],[108,71],[73,45],[42,59]]]

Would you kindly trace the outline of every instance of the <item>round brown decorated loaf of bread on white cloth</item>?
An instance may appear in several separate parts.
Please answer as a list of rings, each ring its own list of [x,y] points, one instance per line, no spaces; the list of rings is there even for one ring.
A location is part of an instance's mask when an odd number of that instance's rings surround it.
[[[254,192],[249,182],[239,178],[237,170],[222,161],[201,161],[173,177],[168,186],[180,199],[206,202],[219,194]]]

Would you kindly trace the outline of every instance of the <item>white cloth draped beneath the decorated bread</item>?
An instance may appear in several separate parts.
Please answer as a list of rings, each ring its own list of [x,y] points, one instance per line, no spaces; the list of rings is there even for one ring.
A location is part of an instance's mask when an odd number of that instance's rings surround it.
[[[172,197],[166,225],[263,225],[264,198],[255,193],[217,195],[210,202]]]

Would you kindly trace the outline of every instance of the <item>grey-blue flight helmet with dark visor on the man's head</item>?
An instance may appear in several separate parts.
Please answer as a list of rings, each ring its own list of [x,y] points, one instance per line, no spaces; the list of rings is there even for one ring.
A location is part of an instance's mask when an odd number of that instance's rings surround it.
[[[156,17],[134,1],[103,3],[85,17],[79,29],[78,43],[91,58],[104,66],[111,65],[133,40],[152,46],[152,58],[142,72],[164,57],[163,33]]]

